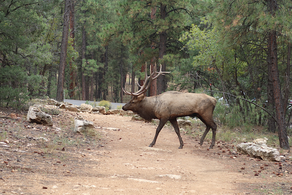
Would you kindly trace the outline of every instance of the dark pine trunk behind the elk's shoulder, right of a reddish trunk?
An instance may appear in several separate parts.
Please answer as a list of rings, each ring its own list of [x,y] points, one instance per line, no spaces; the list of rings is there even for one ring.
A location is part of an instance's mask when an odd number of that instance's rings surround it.
[[[165,20],[166,18],[166,5],[161,4],[160,5],[160,18],[161,20]],[[160,34],[159,38],[159,59],[161,60],[163,56],[166,54],[166,39],[167,39],[167,34],[166,30],[162,31]],[[166,70],[166,65],[165,62],[161,63],[161,70],[165,71]],[[161,94],[166,91],[167,88],[167,81],[165,75],[160,75],[157,78],[157,94]]]

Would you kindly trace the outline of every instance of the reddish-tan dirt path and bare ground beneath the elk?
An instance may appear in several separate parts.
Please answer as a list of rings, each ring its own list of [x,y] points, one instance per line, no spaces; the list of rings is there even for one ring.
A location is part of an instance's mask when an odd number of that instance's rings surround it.
[[[199,146],[198,141],[184,134],[182,138],[185,146],[178,149],[177,135],[174,130],[166,127],[161,130],[156,145],[150,148],[148,145],[157,125],[131,121],[131,117],[120,115],[79,115],[93,121],[96,127],[101,127],[97,128],[101,134],[99,142],[69,132],[72,119],[76,116],[71,112],[53,117],[58,120],[56,127],[48,129],[40,125],[32,127],[24,122],[22,125],[25,126],[21,126],[22,130],[18,129],[16,133],[17,130],[14,132],[12,127],[6,128],[13,126],[13,122],[2,123],[2,133],[7,131],[6,139],[12,141],[9,143],[10,147],[0,147],[1,195],[229,195],[270,192],[290,194],[292,191],[289,190],[291,174],[276,176],[275,172],[272,173],[272,167],[278,165],[274,163],[258,162],[243,155],[232,156],[233,149],[230,155],[219,155],[221,151],[218,148],[207,150],[209,141]],[[59,127],[61,130],[56,130]],[[119,130],[107,130],[106,127]],[[49,142],[59,145],[60,149],[53,148],[51,151],[55,152],[42,153],[45,150],[43,145],[47,150],[50,149],[48,141],[29,139],[44,133],[50,137]],[[78,147],[62,148],[65,139],[78,140],[77,138],[83,139]],[[263,169],[259,176],[255,176],[254,170],[260,170],[265,163],[266,170]],[[291,162],[287,162],[285,166],[291,172]],[[11,172],[12,169],[16,172]]]

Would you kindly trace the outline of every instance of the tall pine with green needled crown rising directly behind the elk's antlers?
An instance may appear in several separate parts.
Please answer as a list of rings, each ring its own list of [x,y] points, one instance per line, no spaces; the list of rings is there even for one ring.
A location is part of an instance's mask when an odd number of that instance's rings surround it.
[[[146,58],[145,61],[156,57],[159,60],[157,63],[162,65],[162,71],[165,71],[166,62],[171,63],[173,58],[167,55],[178,54],[183,46],[178,39],[191,25],[192,18],[189,14],[192,3],[194,2],[174,0],[124,1],[124,10],[121,12],[128,24],[127,33],[133,33],[128,35],[131,37],[132,51],[140,53],[142,58]],[[151,18],[154,7],[155,17]],[[157,79],[158,94],[164,92],[166,87],[166,76],[161,75]]]

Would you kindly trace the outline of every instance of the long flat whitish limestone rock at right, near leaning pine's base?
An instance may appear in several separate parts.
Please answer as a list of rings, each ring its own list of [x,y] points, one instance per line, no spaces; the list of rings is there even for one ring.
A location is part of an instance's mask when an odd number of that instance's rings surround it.
[[[277,149],[268,147],[266,144],[256,144],[252,142],[241,143],[236,146],[237,152],[249,155],[253,158],[265,161],[280,161],[280,153]]]

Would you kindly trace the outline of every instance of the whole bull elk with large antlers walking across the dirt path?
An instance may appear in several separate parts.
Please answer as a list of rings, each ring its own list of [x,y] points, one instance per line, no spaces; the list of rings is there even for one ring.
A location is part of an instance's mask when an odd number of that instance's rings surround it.
[[[150,66],[150,76],[147,75],[147,63],[145,63],[145,81],[142,86],[139,85],[140,90],[135,93],[130,93],[126,91],[126,88],[123,89],[125,94],[133,96],[132,99],[126,103],[122,109],[124,111],[131,110],[136,114],[139,114],[146,122],[150,122],[152,119],[159,119],[159,125],[156,129],[155,137],[149,147],[154,146],[157,136],[164,126],[164,124],[169,120],[174,127],[178,139],[180,140],[180,147],[183,148],[183,140],[180,137],[180,130],[178,127],[177,118],[190,116],[197,117],[206,125],[206,130],[201,137],[200,144],[203,144],[203,141],[206,137],[206,134],[212,128],[212,142],[210,149],[215,145],[215,136],[217,125],[213,121],[213,111],[216,104],[216,99],[208,96],[206,94],[195,94],[195,93],[181,93],[175,91],[164,92],[157,96],[146,97],[145,93],[149,89],[153,80],[157,79],[159,75],[170,73],[162,72],[161,65],[160,71],[151,72]],[[156,70],[156,64],[154,65],[154,70]],[[153,77],[157,73],[155,77]],[[149,80],[149,82],[148,82]],[[147,84],[148,82],[148,84]]]

